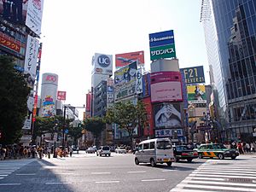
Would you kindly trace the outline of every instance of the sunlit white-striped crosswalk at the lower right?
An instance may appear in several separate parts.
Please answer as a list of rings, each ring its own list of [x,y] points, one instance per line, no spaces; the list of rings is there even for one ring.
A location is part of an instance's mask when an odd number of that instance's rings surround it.
[[[207,160],[170,192],[256,192],[256,158]]]

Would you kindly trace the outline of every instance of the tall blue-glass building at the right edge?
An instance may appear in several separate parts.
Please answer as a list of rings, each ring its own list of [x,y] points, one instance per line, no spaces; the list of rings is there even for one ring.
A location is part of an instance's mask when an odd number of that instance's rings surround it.
[[[256,2],[202,0],[213,89],[228,140],[256,136]]]

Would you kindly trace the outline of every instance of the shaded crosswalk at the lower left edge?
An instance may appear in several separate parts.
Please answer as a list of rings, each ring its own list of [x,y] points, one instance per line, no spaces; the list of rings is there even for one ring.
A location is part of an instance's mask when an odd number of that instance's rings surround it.
[[[22,166],[26,166],[32,162],[32,160],[19,161],[19,160],[2,160],[0,161],[0,183],[4,177],[8,177],[10,174],[13,174],[15,171],[20,169]]]

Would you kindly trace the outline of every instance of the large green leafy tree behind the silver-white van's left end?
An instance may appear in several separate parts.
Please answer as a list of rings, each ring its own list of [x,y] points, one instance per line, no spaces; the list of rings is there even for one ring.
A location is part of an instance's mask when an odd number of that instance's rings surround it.
[[[119,125],[119,129],[127,131],[132,146],[134,129],[137,125],[143,127],[148,122],[148,114],[143,102],[138,101],[137,105],[131,102],[117,102],[112,108],[108,108],[106,121],[108,124],[115,123]]]

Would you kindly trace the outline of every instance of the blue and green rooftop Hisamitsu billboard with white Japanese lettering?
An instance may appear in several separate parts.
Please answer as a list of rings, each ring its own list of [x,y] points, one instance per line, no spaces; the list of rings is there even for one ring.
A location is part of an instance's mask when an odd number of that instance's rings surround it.
[[[150,60],[176,58],[173,30],[149,34]]]

